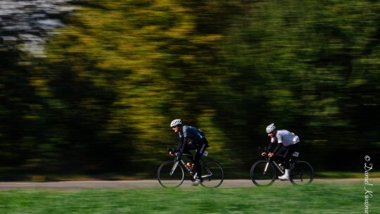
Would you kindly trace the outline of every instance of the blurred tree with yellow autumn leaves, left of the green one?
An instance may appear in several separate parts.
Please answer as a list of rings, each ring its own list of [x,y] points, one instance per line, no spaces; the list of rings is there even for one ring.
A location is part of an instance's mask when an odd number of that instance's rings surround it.
[[[227,2],[82,2],[67,20],[70,25],[49,42],[48,57],[37,68],[44,82],[37,88],[48,92],[52,115],[61,115],[60,141],[70,147],[63,151],[75,152],[79,165],[89,165],[89,159],[96,165],[98,154],[123,159],[120,168],[134,170],[156,164],[167,146],[177,144],[168,125],[173,118],[203,123],[212,133],[211,95],[215,77],[223,75],[215,71],[214,46],[224,29],[218,17],[234,6]],[[118,153],[101,154],[94,144],[99,151],[107,151],[104,146]]]

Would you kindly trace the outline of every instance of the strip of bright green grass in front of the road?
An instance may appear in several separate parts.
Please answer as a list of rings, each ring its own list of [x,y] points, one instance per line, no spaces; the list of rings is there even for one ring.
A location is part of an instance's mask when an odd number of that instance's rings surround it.
[[[367,186],[371,213],[380,213],[380,187]],[[128,188],[2,190],[0,213],[364,213],[364,184],[258,188]]]

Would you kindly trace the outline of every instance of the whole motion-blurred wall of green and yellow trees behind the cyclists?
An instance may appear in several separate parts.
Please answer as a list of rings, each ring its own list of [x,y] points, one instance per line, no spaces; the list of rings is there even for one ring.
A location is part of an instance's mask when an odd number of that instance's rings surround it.
[[[42,56],[1,31],[3,178],[153,177],[175,118],[205,131],[230,177],[260,158],[272,122],[319,172],[379,162],[379,2],[65,4],[52,15],[64,26],[31,30]]]

